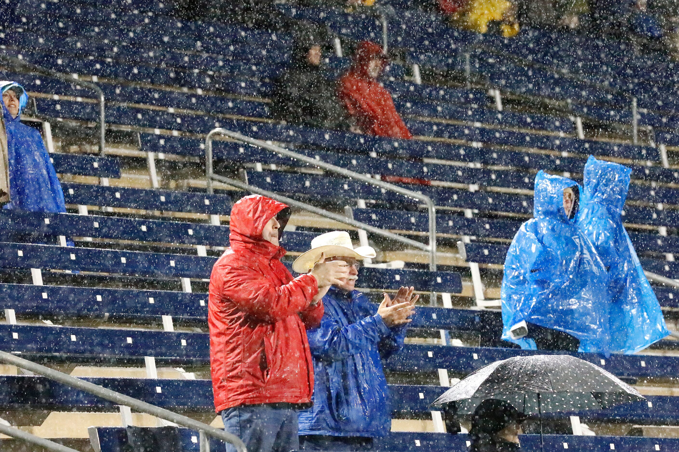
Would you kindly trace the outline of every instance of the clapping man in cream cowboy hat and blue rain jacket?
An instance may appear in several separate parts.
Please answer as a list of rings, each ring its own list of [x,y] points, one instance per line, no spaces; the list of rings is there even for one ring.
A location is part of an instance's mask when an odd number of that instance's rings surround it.
[[[354,289],[363,258],[371,247],[354,249],[348,232],[316,237],[312,249],[295,260],[306,273],[318,262],[342,262],[349,269],[327,289],[320,327],[308,331],[314,357],[314,405],[299,413],[302,450],[367,450],[373,438],[390,431],[391,409],[381,358],[401,350],[405,326],[419,295],[401,287],[394,300],[384,293],[377,306]]]

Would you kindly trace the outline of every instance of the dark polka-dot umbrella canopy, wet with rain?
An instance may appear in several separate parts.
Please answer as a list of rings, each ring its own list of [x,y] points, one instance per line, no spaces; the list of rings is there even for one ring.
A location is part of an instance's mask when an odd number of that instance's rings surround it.
[[[505,400],[526,415],[602,409],[644,400],[600,367],[570,355],[515,356],[471,373],[441,394],[436,407],[473,413],[483,400]]]

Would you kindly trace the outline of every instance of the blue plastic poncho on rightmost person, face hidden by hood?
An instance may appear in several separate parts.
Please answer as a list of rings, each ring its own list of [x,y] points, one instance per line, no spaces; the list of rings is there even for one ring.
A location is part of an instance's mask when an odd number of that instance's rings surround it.
[[[610,350],[631,354],[669,334],[653,289],[623,226],[631,169],[589,156],[578,225],[608,268]]]

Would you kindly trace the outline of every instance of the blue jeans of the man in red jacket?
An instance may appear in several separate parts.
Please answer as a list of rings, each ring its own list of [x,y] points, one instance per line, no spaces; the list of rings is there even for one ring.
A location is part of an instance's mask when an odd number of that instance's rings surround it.
[[[224,430],[240,438],[248,452],[290,452],[299,449],[297,409],[289,403],[242,405],[221,412]],[[226,452],[236,448],[226,445]]]

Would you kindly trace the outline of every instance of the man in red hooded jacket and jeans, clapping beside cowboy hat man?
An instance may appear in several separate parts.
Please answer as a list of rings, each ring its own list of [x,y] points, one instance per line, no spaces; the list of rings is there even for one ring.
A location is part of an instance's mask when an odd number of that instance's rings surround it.
[[[235,203],[231,246],[210,275],[215,409],[249,452],[299,449],[297,410],[310,406],[314,390],[306,329],[320,325],[320,300],[349,273],[345,262],[327,262],[293,279],[278,246],[289,211],[257,194]]]

